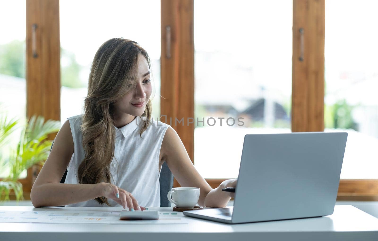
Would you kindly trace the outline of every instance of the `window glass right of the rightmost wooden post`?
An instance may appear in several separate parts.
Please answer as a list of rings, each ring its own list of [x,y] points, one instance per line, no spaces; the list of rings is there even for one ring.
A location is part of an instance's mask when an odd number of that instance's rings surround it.
[[[378,2],[325,1],[325,131],[348,133],[342,179],[378,178]]]

